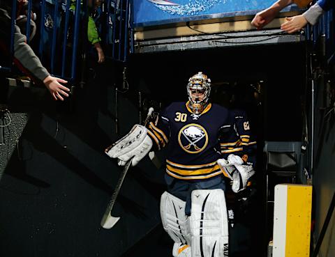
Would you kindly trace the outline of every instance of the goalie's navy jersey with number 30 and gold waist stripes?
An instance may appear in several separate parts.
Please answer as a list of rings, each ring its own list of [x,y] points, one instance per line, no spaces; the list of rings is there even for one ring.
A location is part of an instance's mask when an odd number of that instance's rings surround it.
[[[159,150],[168,146],[166,172],[181,180],[204,180],[222,176],[217,159],[220,142],[234,134],[233,115],[218,104],[208,104],[193,114],[188,103],[174,102],[148,125],[148,134]]]

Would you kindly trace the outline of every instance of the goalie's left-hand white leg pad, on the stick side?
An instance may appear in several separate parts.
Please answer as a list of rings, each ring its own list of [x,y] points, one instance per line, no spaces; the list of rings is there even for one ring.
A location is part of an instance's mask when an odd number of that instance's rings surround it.
[[[161,196],[161,219],[163,228],[175,244],[190,244],[190,225],[185,215],[186,202],[164,192]],[[173,253],[173,256],[174,253]],[[190,256],[191,257],[191,256]]]

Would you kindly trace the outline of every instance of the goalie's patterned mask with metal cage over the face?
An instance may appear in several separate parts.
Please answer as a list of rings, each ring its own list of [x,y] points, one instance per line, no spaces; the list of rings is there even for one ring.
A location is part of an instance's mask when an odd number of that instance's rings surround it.
[[[201,114],[207,106],[209,100],[209,93],[211,92],[211,79],[204,75],[202,72],[193,75],[188,79],[187,93],[189,107],[193,114]]]

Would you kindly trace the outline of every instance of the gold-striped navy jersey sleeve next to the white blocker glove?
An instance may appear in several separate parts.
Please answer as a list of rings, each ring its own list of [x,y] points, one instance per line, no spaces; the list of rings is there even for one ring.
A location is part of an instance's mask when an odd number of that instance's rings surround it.
[[[161,150],[167,146],[169,142],[170,120],[167,114],[166,110],[162,111],[160,114],[151,118],[146,125],[148,135],[153,142],[155,150]]]

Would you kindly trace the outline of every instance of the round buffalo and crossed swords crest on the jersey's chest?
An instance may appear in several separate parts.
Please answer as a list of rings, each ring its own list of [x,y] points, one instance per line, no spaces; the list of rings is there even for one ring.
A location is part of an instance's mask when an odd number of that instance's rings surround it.
[[[200,153],[207,146],[208,134],[204,127],[188,124],[179,131],[178,142],[187,153]]]

